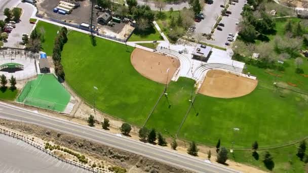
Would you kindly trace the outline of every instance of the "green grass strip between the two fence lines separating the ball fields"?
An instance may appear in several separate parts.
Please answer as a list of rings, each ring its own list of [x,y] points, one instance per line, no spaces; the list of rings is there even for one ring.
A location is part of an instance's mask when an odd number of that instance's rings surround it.
[[[168,100],[162,97],[153,114],[146,123],[149,128],[155,127],[161,133],[174,135],[190,105],[188,101],[194,91],[195,80],[180,77],[168,86]],[[171,107],[169,108],[169,103]]]

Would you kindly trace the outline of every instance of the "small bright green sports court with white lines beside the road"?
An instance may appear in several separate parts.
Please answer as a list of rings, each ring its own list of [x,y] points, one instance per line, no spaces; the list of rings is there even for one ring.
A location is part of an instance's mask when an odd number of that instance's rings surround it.
[[[35,80],[28,81],[18,102],[62,112],[70,100],[69,93],[53,74],[40,74]]]

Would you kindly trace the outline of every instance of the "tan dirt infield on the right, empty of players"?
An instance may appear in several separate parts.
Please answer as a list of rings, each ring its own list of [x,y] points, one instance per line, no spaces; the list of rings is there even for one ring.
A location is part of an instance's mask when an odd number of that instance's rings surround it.
[[[222,70],[210,70],[206,74],[199,93],[210,97],[235,98],[251,93],[257,84],[258,80]]]

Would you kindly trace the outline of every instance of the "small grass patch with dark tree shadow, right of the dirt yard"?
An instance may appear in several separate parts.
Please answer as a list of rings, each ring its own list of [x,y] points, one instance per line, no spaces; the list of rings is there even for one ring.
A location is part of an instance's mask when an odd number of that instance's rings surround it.
[[[163,40],[160,32],[153,26],[146,32],[138,32],[136,29],[128,41],[155,41]]]

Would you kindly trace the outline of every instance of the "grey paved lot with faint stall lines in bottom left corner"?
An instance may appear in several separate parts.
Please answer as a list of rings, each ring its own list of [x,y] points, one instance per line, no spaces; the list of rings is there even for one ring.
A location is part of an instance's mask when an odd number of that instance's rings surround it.
[[[89,172],[38,150],[16,138],[0,134],[0,173]]]

